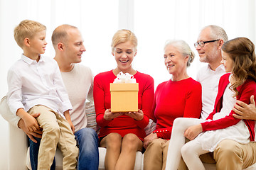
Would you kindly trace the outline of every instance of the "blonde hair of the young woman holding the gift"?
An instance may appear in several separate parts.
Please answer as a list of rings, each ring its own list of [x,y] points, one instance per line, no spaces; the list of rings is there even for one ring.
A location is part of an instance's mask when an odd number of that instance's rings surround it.
[[[117,30],[117,33],[114,34],[112,38],[112,52],[114,52],[114,47],[119,45],[122,42],[132,42],[132,45],[134,45],[134,50],[137,50],[138,40],[137,37],[132,33],[131,30]]]

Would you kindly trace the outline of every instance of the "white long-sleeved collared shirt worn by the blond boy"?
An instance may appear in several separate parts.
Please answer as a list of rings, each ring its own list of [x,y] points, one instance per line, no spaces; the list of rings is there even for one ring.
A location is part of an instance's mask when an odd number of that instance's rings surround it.
[[[36,105],[47,106],[60,115],[72,109],[58,64],[50,57],[41,55],[36,62],[21,55],[9,69],[7,82],[8,103],[15,115],[18,108],[28,111]]]

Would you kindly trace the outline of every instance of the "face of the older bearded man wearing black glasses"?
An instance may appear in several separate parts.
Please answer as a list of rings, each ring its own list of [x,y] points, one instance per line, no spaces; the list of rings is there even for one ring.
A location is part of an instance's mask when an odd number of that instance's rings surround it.
[[[210,28],[201,31],[197,42],[208,40],[213,40],[213,38],[210,38]],[[203,47],[198,45],[196,50],[198,51],[200,62],[214,62],[218,58],[218,41],[206,43]]]

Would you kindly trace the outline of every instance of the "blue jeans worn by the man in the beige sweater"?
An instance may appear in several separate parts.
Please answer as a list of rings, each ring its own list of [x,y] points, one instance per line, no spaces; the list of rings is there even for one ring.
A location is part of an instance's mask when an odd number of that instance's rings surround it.
[[[75,137],[79,146],[78,170],[97,170],[99,166],[99,150],[97,133],[92,128],[82,128],[75,132]],[[30,159],[32,170],[37,169],[38,150],[41,139],[36,138],[37,143],[29,140]],[[55,169],[55,159],[50,170]]]

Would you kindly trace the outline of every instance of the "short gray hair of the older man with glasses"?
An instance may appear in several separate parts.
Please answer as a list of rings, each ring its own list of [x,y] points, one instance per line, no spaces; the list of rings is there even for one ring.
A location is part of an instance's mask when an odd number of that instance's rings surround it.
[[[204,27],[202,30],[210,28],[210,37],[213,39],[220,39],[224,42],[228,41],[228,35],[225,33],[225,30],[220,26],[210,25]]]

